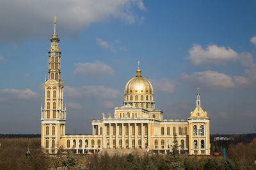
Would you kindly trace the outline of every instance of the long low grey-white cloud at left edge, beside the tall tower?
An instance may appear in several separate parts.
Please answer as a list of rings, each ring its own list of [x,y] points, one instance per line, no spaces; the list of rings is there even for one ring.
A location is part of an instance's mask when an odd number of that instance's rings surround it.
[[[0,90],[0,101],[15,101],[26,100],[33,101],[39,99],[40,95],[33,92],[31,89],[19,90],[19,89],[2,89]]]

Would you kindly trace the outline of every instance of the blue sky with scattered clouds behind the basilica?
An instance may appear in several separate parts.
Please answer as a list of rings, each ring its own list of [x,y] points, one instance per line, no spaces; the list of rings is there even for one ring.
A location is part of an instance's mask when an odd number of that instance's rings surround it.
[[[164,118],[188,118],[200,87],[211,134],[255,132],[256,2],[0,1],[0,133],[40,133],[53,16],[68,134],[122,106],[142,74]]]

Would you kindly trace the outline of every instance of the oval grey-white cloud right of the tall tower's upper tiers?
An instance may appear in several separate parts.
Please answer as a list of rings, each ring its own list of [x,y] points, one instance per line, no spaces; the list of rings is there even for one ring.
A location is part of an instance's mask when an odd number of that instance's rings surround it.
[[[96,62],[77,62],[74,74],[82,74],[91,78],[100,78],[102,76],[112,76],[115,71],[111,66],[97,60]]]

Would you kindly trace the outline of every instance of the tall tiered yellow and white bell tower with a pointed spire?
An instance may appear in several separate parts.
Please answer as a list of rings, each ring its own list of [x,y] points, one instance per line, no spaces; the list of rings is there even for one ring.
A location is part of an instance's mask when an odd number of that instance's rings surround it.
[[[48,79],[45,78],[44,109],[41,106],[41,146],[47,153],[57,153],[61,145],[61,136],[65,135],[66,107],[63,109],[63,80],[60,77],[61,52],[58,47],[60,39],[56,34],[56,17],[54,17],[54,34],[49,50]]]

